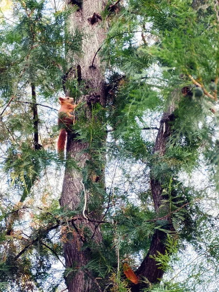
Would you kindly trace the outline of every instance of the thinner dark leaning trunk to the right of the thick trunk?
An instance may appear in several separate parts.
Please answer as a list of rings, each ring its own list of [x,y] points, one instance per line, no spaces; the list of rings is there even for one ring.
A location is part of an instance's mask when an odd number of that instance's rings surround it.
[[[174,120],[173,112],[176,108],[175,102],[179,100],[178,91],[174,91],[172,95],[173,95],[172,103],[168,107],[167,111],[163,113],[158,134],[156,137],[154,154],[157,154],[159,157],[163,156],[165,153],[166,143],[171,135],[171,128],[170,128],[171,126],[169,122]],[[154,202],[154,209],[158,215],[162,201],[168,198],[164,198],[164,196],[162,196],[162,192],[163,192],[162,183],[160,183],[159,181],[155,179],[151,179],[150,185],[151,185],[152,198]],[[168,210],[168,206],[167,206],[167,210]],[[171,229],[172,224],[171,224],[170,216],[166,217],[166,219],[169,220],[170,224],[168,228]],[[164,255],[166,251],[165,239],[166,239],[166,233],[164,231],[159,231],[159,230],[155,231],[151,240],[149,251],[136,272],[137,275],[146,277],[150,283],[159,282],[160,279],[162,279],[164,275],[164,271],[162,269],[159,269],[159,265],[157,265],[157,262],[151,256],[156,256],[158,252]],[[135,290],[133,289],[133,291]]]

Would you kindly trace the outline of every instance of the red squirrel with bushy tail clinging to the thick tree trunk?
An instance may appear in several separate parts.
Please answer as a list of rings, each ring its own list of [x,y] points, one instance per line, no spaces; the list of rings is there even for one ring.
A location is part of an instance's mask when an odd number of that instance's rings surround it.
[[[77,105],[73,105],[74,99],[72,97],[59,97],[59,103],[61,105],[58,111],[58,125],[64,125],[65,128],[61,128],[58,136],[57,149],[58,152],[64,151],[67,138],[67,130],[71,130],[71,125],[74,124],[74,116],[70,113]]]

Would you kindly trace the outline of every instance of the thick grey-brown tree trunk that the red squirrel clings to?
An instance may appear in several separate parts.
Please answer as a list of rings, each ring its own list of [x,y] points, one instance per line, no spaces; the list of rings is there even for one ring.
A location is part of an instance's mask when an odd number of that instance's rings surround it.
[[[76,3],[73,1],[72,3]],[[96,54],[105,38],[104,24],[101,17],[93,17],[94,14],[100,15],[104,9],[104,0],[83,0],[79,3],[79,9],[71,15],[70,30],[80,30],[83,36],[82,51],[80,56],[67,56],[73,71],[77,72],[78,82],[83,80],[88,94],[80,97],[78,102],[85,102],[91,109],[91,104],[100,103],[105,105],[105,79],[104,72],[100,66],[100,60]],[[93,19],[93,20],[92,20]],[[80,76],[79,76],[80,75]],[[68,92],[66,92],[68,95]],[[89,115],[88,115],[89,116]],[[77,121],[76,121],[77,122]],[[66,156],[73,158],[78,167],[83,169],[91,159],[87,153],[88,143],[75,140],[74,133],[68,133]],[[77,137],[78,138],[78,137]],[[66,166],[60,205],[69,210],[76,210],[78,206],[83,206],[85,195],[89,201],[89,190],[84,193],[85,187],[82,174]],[[87,216],[87,214],[86,214]],[[92,219],[100,219],[100,214],[92,213]],[[82,217],[83,218],[83,217]],[[91,259],[91,249],[84,247],[88,240],[96,244],[102,241],[102,236],[98,223],[90,222],[87,219],[73,218],[72,226],[69,227],[66,242],[64,243],[64,256],[66,268],[74,268],[74,271],[66,276],[66,284],[69,292],[91,292],[100,291],[98,282],[88,271],[85,265]]]

